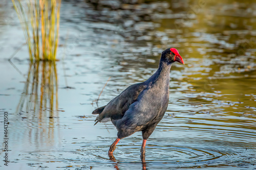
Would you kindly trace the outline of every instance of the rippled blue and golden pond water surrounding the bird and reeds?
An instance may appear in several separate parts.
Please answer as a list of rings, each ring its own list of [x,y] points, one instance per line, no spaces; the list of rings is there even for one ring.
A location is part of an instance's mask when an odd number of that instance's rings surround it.
[[[25,39],[12,3],[1,1],[1,139],[5,111],[10,122],[10,162],[1,168],[256,169],[255,11],[253,1],[63,1],[60,61],[30,65],[26,46],[7,60]],[[120,140],[110,160],[117,132],[93,126],[95,100],[109,77],[98,106],[148,79],[167,47],[185,65],[170,71],[146,164],[140,132]]]

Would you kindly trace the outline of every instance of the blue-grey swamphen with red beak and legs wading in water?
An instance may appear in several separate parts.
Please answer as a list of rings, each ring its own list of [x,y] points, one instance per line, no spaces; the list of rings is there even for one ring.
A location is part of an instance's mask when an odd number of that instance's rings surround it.
[[[142,131],[141,157],[144,157],[146,140],[163,118],[168,106],[169,72],[175,61],[184,64],[178,50],[167,48],[162,52],[159,67],[151,78],[127,87],[107,105],[93,111],[92,114],[99,114],[95,125],[112,121],[118,130],[109,155],[113,154],[120,139]]]

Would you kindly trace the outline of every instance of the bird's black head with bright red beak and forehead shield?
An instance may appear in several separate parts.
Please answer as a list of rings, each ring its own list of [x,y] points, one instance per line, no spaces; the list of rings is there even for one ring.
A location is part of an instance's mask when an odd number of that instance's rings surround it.
[[[161,60],[167,62],[168,64],[172,64],[175,61],[184,64],[184,61],[176,48],[167,48],[165,51],[163,51]]]

